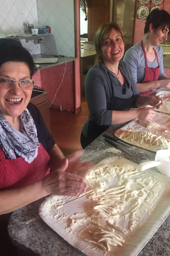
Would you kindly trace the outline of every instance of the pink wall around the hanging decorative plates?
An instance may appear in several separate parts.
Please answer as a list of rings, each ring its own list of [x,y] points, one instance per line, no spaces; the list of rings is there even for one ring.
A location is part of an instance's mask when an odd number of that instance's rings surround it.
[[[143,5],[136,1],[136,18],[135,18],[135,24],[134,24],[134,39],[133,39],[133,45],[137,44],[139,41],[142,40],[144,36],[144,27],[146,20],[137,19],[137,11],[138,8]],[[152,1],[149,1],[148,4],[145,4],[149,9],[151,9],[155,4],[152,3]],[[166,10],[170,13],[170,0],[164,0],[162,3],[160,3],[158,6]]]

